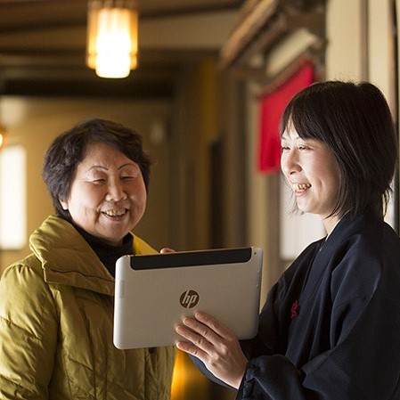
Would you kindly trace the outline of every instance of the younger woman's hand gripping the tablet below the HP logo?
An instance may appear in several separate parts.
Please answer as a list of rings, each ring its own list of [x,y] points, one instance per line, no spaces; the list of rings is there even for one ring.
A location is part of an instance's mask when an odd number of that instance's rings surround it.
[[[233,388],[239,388],[249,363],[239,340],[212,316],[197,312],[184,317],[176,332],[185,340],[176,347],[199,358],[213,375]]]

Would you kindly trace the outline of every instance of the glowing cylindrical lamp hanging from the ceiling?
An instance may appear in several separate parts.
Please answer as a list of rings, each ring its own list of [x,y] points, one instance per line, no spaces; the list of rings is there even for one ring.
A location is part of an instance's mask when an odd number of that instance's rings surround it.
[[[89,0],[86,63],[102,78],[126,78],[137,66],[133,0]]]

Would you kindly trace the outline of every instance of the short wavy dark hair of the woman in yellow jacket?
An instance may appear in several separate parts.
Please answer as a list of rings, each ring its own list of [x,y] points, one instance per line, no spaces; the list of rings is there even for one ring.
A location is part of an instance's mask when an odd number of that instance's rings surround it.
[[[87,148],[92,143],[109,144],[135,161],[142,171],[148,191],[151,159],[143,151],[142,136],[114,121],[86,119],[57,136],[45,152],[42,176],[58,216],[70,219],[69,212],[61,207],[60,200],[68,199],[77,166],[85,159]]]

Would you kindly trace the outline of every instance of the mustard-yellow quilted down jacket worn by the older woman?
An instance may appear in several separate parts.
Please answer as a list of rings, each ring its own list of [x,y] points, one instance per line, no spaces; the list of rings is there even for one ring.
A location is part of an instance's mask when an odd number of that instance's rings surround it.
[[[114,347],[114,279],[74,227],[49,216],[29,242],[0,281],[0,399],[169,399],[174,348]]]

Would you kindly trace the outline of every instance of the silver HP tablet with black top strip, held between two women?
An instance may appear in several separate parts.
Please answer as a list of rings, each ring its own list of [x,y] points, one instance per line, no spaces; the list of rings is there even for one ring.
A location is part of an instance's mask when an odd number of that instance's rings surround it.
[[[175,326],[201,310],[239,339],[257,334],[262,249],[123,256],[116,263],[114,345],[174,345]]]

